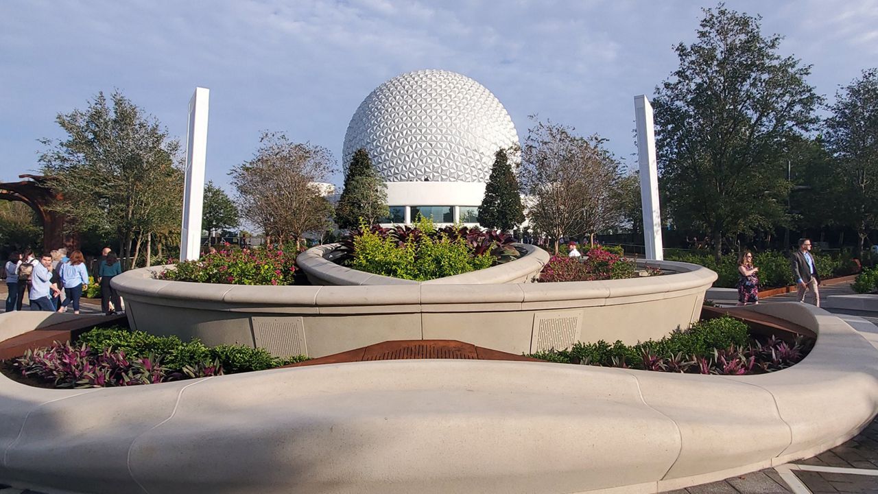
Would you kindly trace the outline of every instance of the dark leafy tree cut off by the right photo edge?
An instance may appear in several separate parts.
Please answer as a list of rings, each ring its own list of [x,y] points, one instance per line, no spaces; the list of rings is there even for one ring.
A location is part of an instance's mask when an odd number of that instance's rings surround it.
[[[836,93],[826,120],[826,143],[836,158],[842,217],[857,230],[859,250],[878,225],[878,69]]]

